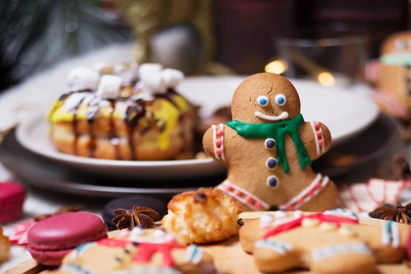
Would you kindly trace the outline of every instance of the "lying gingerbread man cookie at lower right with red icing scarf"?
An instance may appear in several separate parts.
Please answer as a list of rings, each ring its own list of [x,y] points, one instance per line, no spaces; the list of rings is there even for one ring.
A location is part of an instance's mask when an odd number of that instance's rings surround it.
[[[408,225],[362,225],[346,210],[297,216],[279,212],[240,229],[242,248],[253,253],[264,273],[294,268],[319,274],[375,273],[377,263],[405,258],[407,238]]]

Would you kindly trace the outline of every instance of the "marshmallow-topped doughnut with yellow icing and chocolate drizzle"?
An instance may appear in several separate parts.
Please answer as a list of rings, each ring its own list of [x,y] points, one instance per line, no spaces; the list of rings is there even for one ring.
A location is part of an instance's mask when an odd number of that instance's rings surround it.
[[[180,71],[101,62],[69,73],[69,92],[49,112],[58,151],[110,160],[192,157],[194,108],[175,92]]]

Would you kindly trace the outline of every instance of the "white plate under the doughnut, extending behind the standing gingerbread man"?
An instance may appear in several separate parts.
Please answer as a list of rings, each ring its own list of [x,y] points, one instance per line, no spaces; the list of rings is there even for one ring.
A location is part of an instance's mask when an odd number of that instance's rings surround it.
[[[235,88],[244,77],[191,77],[179,91],[202,105],[207,116],[220,106],[229,105]],[[346,140],[370,125],[378,108],[368,97],[338,88],[324,88],[313,82],[292,81],[301,97],[301,113],[306,121],[321,121],[332,133],[333,143]],[[172,161],[119,161],[84,158],[60,153],[47,136],[47,121],[41,117],[23,121],[16,131],[21,145],[47,158],[104,175],[122,175],[140,179],[177,179],[202,177],[224,172],[223,166],[210,159]]]

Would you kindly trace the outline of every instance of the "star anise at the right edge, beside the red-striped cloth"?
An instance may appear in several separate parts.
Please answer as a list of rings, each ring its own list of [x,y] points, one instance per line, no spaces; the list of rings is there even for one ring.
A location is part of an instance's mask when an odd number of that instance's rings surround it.
[[[408,224],[411,223],[411,203],[408,203],[407,206],[401,206],[400,203],[397,206],[385,204],[369,213],[369,215],[375,219]]]

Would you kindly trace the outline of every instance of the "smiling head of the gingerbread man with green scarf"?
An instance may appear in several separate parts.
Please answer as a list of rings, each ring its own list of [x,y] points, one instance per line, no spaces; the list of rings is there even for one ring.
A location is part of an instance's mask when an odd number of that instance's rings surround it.
[[[234,92],[232,116],[245,123],[273,123],[300,112],[297,90],[284,77],[259,73],[247,77]]]

